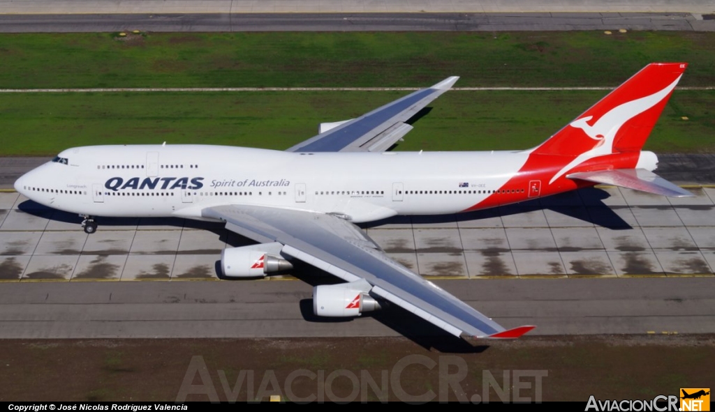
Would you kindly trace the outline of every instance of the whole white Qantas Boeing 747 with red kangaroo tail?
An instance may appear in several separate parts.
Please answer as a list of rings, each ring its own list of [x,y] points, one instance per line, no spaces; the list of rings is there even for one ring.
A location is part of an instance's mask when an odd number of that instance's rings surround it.
[[[388,151],[405,123],[455,84],[449,77],[370,113],[331,124],[286,151],[205,145],[88,146],[62,151],[15,189],[84,217],[178,216],[225,223],[258,242],[226,248],[222,276],[261,277],[300,260],[345,281],[316,286],[318,316],[360,316],[401,306],[448,333],[517,338],[443,289],[390,259],[355,223],[396,215],[475,211],[609,184],[691,196],[652,173],[641,151],[686,69],[654,63],[533,149]]]

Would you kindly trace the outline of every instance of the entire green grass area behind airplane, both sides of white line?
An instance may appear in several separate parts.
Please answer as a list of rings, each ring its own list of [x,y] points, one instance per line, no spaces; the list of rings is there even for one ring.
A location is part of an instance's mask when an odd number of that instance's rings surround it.
[[[0,61],[0,89],[428,86],[450,75],[457,86],[615,87],[651,61],[686,61],[681,86],[714,86],[715,33],[0,34]],[[3,94],[0,156],[163,141],[285,149],[404,94]],[[398,150],[526,149],[604,94],[450,91]],[[676,91],[646,149],[715,151],[713,107],[715,91]]]

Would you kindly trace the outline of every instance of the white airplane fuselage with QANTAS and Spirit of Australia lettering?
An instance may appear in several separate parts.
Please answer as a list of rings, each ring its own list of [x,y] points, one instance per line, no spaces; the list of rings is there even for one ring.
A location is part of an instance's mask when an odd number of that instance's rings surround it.
[[[310,154],[138,145],[79,147],[58,158],[64,160],[22,176],[16,189],[89,216],[201,218],[207,206],[250,204],[365,222],[472,208],[517,174],[528,151]],[[525,187],[512,190],[523,196],[509,199],[527,199]]]

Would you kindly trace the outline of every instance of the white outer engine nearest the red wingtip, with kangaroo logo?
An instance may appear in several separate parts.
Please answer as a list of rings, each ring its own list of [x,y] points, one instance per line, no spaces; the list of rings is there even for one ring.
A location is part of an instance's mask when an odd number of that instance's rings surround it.
[[[363,312],[377,311],[380,303],[370,296],[370,283],[364,280],[320,285],[313,288],[313,313],[317,316],[360,316]]]

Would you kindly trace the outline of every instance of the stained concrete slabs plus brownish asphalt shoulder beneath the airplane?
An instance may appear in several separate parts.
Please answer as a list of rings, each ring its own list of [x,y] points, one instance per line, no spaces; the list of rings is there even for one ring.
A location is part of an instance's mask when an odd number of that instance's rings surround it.
[[[368,233],[395,260],[505,326],[714,333],[715,189],[691,190],[696,197],[666,199],[588,189],[465,215],[397,218]],[[0,338],[441,333],[398,308],[352,321],[315,318],[310,285],[331,276],[218,281],[222,248],[247,244],[218,224],[99,225],[87,235],[77,216],[0,194]]]

